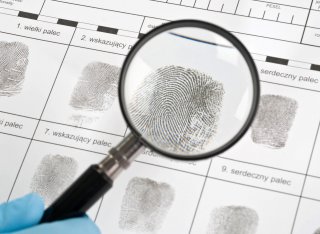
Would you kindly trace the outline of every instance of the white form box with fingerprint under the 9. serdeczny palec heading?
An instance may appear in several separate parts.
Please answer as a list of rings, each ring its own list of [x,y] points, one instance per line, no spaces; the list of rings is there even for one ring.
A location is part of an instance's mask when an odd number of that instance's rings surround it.
[[[295,196],[208,179],[191,233],[290,233],[298,200]]]

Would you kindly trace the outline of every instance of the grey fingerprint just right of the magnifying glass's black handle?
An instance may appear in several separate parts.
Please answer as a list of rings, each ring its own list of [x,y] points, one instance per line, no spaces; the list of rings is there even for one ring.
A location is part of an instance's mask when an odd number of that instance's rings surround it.
[[[174,190],[166,183],[135,177],[122,200],[119,227],[135,232],[159,230],[174,200]]]

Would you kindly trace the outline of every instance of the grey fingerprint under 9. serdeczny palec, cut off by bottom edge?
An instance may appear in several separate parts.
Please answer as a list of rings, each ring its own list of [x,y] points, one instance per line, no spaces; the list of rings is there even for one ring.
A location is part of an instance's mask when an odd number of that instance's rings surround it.
[[[224,206],[211,213],[207,234],[255,234],[259,216],[243,206]]]

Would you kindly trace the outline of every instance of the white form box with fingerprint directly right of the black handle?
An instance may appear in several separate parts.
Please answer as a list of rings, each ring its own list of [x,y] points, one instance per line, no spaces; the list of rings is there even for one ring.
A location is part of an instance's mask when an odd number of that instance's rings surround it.
[[[188,233],[203,182],[202,176],[134,163],[105,195],[97,224],[103,233]]]

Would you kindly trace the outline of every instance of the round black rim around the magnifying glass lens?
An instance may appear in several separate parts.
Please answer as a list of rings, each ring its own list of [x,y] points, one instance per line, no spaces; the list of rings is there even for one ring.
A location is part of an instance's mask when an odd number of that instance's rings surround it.
[[[127,110],[125,108],[125,97],[124,97],[124,84],[125,84],[125,79],[126,79],[126,74],[127,71],[129,69],[129,66],[131,64],[131,61],[134,59],[135,55],[137,54],[137,52],[140,50],[141,47],[143,47],[144,44],[146,44],[150,39],[152,39],[153,37],[159,35],[160,33],[164,32],[164,31],[168,31],[170,29],[175,29],[175,28],[181,28],[181,27],[196,27],[196,28],[202,28],[202,29],[207,29],[209,31],[215,32],[218,35],[221,35],[222,37],[226,38],[229,42],[231,42],[235,48],[237,48],[240,53],[242,54],[242,56],[244,57],[244,59],[246,60],[249,69],[250,69],[250,73],[251,73],[251,77],[252,77],[252,84],[253,84],[253,102],[252,102],[252,106],[251,106],[251,110],[250,113],[248,115],[248,118],[245,122],[245,124],[243,125],[243,127],[240,129],[240,131],[230,140],[228,141],[226,144],[220,146],[219,148],[207,152],[207,153],[203,153],[203,154],[197,154],[194,156],[188,155],[187,157],[183,157],[181,155],[178,154],[173,154],[173,153],[168,153],[160,148],[157,148],[155,146],[153,146],[152,144],[150,144],[147,140],[145,140],[142,136],[141,133],[139,133],[139,131],[134,127],[134,124],[131,123],[130,118],[128,117],[129,114],[127,113]],[[224,151],[228,150],[230,147],[232,147],[235,143],[237,143],[241,137],[247,132],[247,130],[249,129],[254,116],[257,112],[258,109],[258,104],[259,104],[259,97],[260,97],[260,85],[259,85],[259,74],[257,71],[257,68],[255,66],[255,63],[250,55],[250,53],[248,52],[248,50],[245,48],[245,46],[235,37],[233,36],[231,33],[229,33],[228,31],[226,31],[225,29],[216,26],[214,24],[210,24],[207,22],[203,22],[203,21],[199,21],[199,20],[178,20],[178,21],[173,21],[170,23],[166,23],[163,24],[155,29],[153,29],[152,31],[150,31],[149,33],[145,34],[142,39],[140,39],[131,49],[131,51],[129,52],[129,54],[127,55],[123,66],[122,66],[122,70],[121,70],[121,74],[120,74],[120,81],[119,81],[119,99],[120,99],[120,108],[122,111],[122,114],[132,132],[132,134],[134,134],[137,138],[139,138],[140,142],[142,144],[144,144],[146,147],[150,148],[151,150],[158,152],[164,156],[170,157],[170,158],[175,158],[175,159],[182,159],[182,160],[197,160],[197,159],[206,159],[206,158],[211,158],[214,157],[218,154],[223,153]]]

